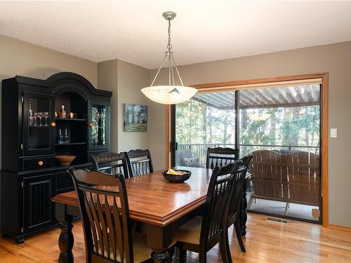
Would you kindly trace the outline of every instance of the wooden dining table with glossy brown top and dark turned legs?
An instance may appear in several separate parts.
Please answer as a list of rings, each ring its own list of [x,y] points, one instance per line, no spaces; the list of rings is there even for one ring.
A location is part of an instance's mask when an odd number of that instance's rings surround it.
[[[146,224],[147,245],[152,249],[154,262],[168,262],[167,248],[171,245],[173,229],[190,220],[201,211],[212,170],[205,168],[177,167],[190,170],[192,175],[183,183],[164,179],[162,171],[126,179],[131,220]],[[246,234],[246,187],[242,192],[241,234]],[[60,222],[59,263],[74,262],[72,248],[74,236],[72,221],[80,215],[75,191],[58,194],[55,202],[56,219]]]

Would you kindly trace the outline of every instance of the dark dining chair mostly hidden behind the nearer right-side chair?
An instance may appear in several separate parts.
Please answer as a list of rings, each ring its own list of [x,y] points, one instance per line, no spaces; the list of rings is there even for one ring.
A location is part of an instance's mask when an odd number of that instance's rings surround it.
[[[241,229],[240,229],[240,218],[239,210],[241,204],[242,191],[244,191],[244,181],[246,180],[246,173],[249,167],[249,163],[252,159],[252,154],[248,154],[241,158],[241,167],[237,170],[237,176],[235,177],[235,187],[232,191],[232,196],[230,198],[230,207],[228,213],[228,222],[227,222],[227,231],[225,231],[225,239],[227,245],[228,259],[229,262],[232,262],[232,257],[230,256],[230,245],[228,241],[228,229],[234,224],[234,229],[237,234],[237,240],[240,245],[241,251],[246,252],[244,242],[241,238]]]

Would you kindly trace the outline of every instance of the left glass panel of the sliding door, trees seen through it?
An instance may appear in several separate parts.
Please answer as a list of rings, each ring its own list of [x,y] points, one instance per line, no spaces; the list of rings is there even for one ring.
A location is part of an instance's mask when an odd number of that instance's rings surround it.
[[[197,93],[176,104],[176,165],[206,166],[208,147],[235,148],[234,91]]]

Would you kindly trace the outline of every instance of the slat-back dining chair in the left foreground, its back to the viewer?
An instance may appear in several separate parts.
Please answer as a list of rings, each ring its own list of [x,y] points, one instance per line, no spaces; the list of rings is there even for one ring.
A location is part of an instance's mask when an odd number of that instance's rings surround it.
[[[68,171],[78,195],[86,262],[150,262],[152,250],[146,236],[132,235],[124,176],[74,168]]]

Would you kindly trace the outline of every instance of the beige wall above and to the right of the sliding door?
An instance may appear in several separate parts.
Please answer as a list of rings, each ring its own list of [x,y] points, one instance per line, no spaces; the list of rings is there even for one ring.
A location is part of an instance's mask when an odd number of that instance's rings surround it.
[[[187,85],[329,72],[329,128],[338,128],[338,138],[329,138],[329,224],[351,227],[351,174],[347,166],[351,159],[351,41],[185,65],[179,70]],[[167,74],[161,76],[166,81]],[[164,118],[162,105],[154,109],[152,118]],[[160,126],[152,136],[162,138],[164,133]]]

